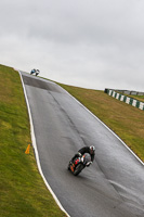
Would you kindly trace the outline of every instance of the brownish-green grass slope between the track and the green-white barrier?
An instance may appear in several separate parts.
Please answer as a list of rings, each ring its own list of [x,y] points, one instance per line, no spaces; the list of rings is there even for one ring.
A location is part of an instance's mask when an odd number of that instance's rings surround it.
[[[144,162],[144,111],[104,91],[58,85],[105,123]]]

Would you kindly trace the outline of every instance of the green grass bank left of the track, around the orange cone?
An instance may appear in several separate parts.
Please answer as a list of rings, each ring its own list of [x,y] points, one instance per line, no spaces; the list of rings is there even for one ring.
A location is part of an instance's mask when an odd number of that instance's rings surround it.
[[[0,65],[0,216],[64,217],[38,173],[19,75]]]

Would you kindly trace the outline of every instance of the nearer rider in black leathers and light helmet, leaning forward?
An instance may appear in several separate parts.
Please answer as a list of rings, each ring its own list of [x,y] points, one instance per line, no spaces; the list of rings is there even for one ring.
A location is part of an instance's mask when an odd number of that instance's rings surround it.
[[[91,162],[90,162],[90,164],[92,164],[92,162],[94,159],[94,155],[95,155],[95,146],[93,146],[93,145],[81,148],[78,151],[78,153],[75,154],[75,156],[71,158],[70,163],[73,163],[76,157],[81,157],[84,153],[89,153],[91,155]]]

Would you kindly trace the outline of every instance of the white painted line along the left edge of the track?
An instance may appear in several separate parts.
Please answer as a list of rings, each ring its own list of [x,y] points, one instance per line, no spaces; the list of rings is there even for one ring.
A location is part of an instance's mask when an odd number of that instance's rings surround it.
[[[22,80],[22,86],[23,86],[23,90],[24,90],[24,95],[25,95],[25,99],[26,99],[26,104],[27,104],[27,110],[28,110],[28,114],[29,114],[29,122],[30,122],[30,132],[31,132],[31,140],[32,140],[32,145],[34,145],[34,149],[35,149],[35,154],[36,154],[36,161],[37,161],[37,165],[38,165],[38,169],[39,169],[39,173],[47,186],[47,188],[49,189],[49,191],[51,192],[53,199],[55,200],[56,204],[60,206],[60,208],[68,216],[68,213],[64,209],[64,207],[62,206],[62,204],[60,203],[58,199],[56,197],[56,195],[54,194],[54,192],[52,191],[50,184],[48,183],[43,173],[42,173],[42,169],[41,169],[41,165],[40,165],[40,159],[39,159],[39,154],[38,154],[38,149],[37,149],[37,143],[36,143],[36,137],[35,137],[35,131],[34,131],[34,125],[32,125],[32,118],[31,118],[31,112],[30,112],[30,106],[29,106],[29,102],[28,102],[28,98],[27,98],[27,94],[26,94],[26,89],[25,89],[25,86],[24,86],[24,81],[23,81],[23,78],[22,78],[22,74],[21,72],[18,71],[19,73],[19,77],[21,77],[21,80]]]

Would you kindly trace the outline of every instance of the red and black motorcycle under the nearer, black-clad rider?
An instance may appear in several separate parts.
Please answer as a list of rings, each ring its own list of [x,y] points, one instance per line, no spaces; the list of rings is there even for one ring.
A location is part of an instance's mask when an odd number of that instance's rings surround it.
[[[89,167],[91,165],[91,156],[90,154],[83,154],[81,157],[76,157],[73,162],[68,164],[68,170],[70,170],[74,176],[78,176],[84,167]]]

